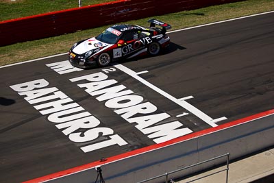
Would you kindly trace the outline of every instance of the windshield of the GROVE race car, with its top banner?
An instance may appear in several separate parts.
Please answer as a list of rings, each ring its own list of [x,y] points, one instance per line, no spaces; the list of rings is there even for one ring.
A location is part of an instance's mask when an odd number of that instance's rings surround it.
[[[96,39],[108,44],[115,44],[119,40],[120,36],[121,32],[110,27],[101,34],[99,34],[99,36],[97,36]]]

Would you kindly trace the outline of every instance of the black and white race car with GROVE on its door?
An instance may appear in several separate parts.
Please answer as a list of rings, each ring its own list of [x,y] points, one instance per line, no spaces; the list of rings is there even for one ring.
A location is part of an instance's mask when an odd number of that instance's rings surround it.
[[[145,54],[157,55],[169,46],[166,30],[171,29],[171,25],[156,19],[148,22],[149,27],[113,25],[96,37],[76,42],[69,50],[69,62],[86,69],[95,64],[108,66],[112,61]]]

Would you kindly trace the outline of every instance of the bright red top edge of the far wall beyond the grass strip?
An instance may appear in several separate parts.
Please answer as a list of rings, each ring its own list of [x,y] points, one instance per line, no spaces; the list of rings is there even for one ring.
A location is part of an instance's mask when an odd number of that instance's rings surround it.
[[[39,17],[39,16],[48,16],[48,15],[52,15],[52,14],[59,14],[59,13],[62,13],[62,12],[71,12],[71,11],[74,11],[74,10],[92,8],[92,7],[101,6],[101,5],[121,3],[121,2],[125,2],[125,1],[129,1],[129,0],[110,1],[108,3],[99,3],[99,4],[95,4],[95,5],[86,5],[86,6],[82,6],[81,8],[70,8],[70,9],[67,9],[67,10],[60,10],[60,11],[55,11],[55,12],[36,14],[36,15],[32,15],[32,16],[25,16],[25,17],[21,17],[21,18],[17,18],[17,19],[10,19],[10,20],[6,20],[6,21],[0,21],[0,24],[1,23],[14,22],[14,21],[20,21],[20,20],[24,20],[24,19],[32,19],[32,18],[36,18],[36,17]]]

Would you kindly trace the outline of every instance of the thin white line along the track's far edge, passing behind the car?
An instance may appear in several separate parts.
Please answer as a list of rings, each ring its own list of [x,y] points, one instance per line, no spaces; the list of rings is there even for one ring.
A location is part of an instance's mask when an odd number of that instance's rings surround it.
[[[214,22],[214,23],[208,23],[208,24],[203,24],[203,25],[197,25],[197,26],[194,26],[194,27],[187,27],[187,28],[184,28],[184,29],[177,29],[177,30],[174,30],[174,31],[171,31],[171,32],[167,32],[168,34],[170,33],[173,33],[173,32],[180,32],[180,31],[184,31],[184,30],[188,30],[188,29],[195,29],[195,28],[199,28],[199,27],[205,27],[205,26],[208,26],[208,25],[214,25],[214,24],[218,24],[218,23],[225,23],[225,22],[229,22],[229,21],[236,21],[236,20],[239,20],[239,19],[246,19],[246,18],[249,18],[249,17],[252,17],[252,16],[260,16],[262,14],[269,14],[269,13],[273,13],[274,11],[271,11],[271,12],[263,12],[263,13],[259,13],[259,14],[251,14],[249,16],[242,16],[242,17],[238,17],[238,18],[235,18],[235,19],[228,19],[228,20],[225,20],[225,21],[218,21],[218,22]],[[37,58],[37,59],[34,59],[34,60],[27,60],[27,61],[24,61],[24,62],[18,62],[18,63],[15,63],[15,64],[8,64],[8,65],[4,65],[4,66],[0,66],[0,69],[1,68],[4,68],[4,67],[8,67],[8,66],[14,66],[14,65],[18,65],[18,64],[25,64],[25,63],[28,63],[28,62],[35,62],[35,61],[38,61],[38,60],[43,60],[43,59],[47,59],[47,58],[53,58],[55,56],[64,56],[66,55],[67,53],[60,53],[60,54],[57,54],[57,55],[53,55],[53,56],[47,56],[47,57],[44,57],[44,58]]]

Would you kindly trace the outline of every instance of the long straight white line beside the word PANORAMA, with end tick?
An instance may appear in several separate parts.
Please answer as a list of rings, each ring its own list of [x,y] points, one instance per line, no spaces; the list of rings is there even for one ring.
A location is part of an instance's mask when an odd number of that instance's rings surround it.
[[[138,76],[138,73],[132,71],[131,69],[127,68],[126,66],[123,66],[121,64],[116,64],[114,66],[117,69],[123,71],[124,73],[127,73],[128,75],[134,77],[136,80],[138,80],[142,84],[145,84],[146,86],[148,86],[152,90],[155,90],[155,92],[159,93],[160,95],[162,95],[162,96],[166,97],[167,99],[170,99],[171,101],[177,103],[179,106],[182,106],[182,108],[185,108],[186,110],[188,110],[192,114],[195,114],[195,116],[199,117],[199,119],[205,121],[206,123],[208,123],[208,125],[210,125],[212,127],[218,126],[218,125],[215,124],[216,121],[222,121],[222,120],[227,119],[226,117],[221,117],[219,119],[212,119],[207,114],[203,113],[201,110],[195,108],[195,106],[192,106],[190,103],[188,103],[188,102],[186,102],[182,99],[176,99],[172,95],[169,95],[169,93],[164,92],[163,90],[161,90],[157,86],[154,86],[153,84],[151,84],[151,83],[147,82],[146,80],[142,79],[142,77]]]

